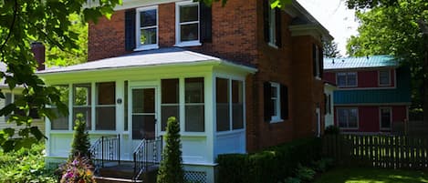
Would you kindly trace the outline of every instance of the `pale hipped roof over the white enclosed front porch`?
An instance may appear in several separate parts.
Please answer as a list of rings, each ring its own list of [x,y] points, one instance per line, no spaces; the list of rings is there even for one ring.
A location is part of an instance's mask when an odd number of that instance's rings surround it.
[[[68,73],[75,71],[89,71],[125,67],[187,65],[203,63],[219,63],[228,66],[238,66],[247,70],[250,73],[256,72],[255,66],[245,66],[237,64],[235,62],[226,61],[218,57],[207,56],[178,47],[169,47],[155,50],[140,51],[125,56],[105,58],[74,66],[47,68],[46,70],[38,71],[37,74],[43,75],[51,73]]]

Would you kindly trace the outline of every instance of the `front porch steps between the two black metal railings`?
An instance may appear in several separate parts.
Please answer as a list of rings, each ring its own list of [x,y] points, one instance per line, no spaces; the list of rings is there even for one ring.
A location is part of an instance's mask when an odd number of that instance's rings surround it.
[[[141,176],[140,180],[133,180],[133,164],[123,163],[120,165],[105,167],[99,169],[99,176],[96,177],[97,183],[125,183],[125,182],[144,182],[155,183],[158,173],[158,166],[148,168]]]

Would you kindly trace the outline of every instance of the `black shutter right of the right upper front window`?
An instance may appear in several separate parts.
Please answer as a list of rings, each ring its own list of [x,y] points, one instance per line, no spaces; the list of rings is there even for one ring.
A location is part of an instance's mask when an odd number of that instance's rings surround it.
[[[213,10],[212,7],[206,5],[204,1],[200,1],[199,5],[201,8],[201,42],[211,43],[213,41]]]

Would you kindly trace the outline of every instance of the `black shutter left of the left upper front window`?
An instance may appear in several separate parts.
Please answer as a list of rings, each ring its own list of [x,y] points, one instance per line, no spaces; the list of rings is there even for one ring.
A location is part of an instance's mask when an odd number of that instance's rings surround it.
[[[135,9],[125,12],[125,50],[132,51],[135,48]]]

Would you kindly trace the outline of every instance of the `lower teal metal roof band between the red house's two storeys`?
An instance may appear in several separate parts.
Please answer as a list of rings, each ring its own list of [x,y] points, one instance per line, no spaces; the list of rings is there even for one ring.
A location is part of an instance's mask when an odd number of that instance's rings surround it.
[[[334,91],[334,104],[410,104],[412,102],[410,70],[401,67],[397,69],[396,73],[396,88],[336,90]]]

